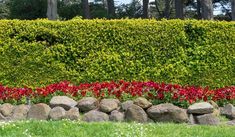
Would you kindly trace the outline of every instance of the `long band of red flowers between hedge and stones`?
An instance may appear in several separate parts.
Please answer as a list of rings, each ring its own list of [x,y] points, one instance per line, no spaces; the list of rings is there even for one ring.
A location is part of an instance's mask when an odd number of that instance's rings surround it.
[[[21,100],[23,98],[43,98],[55,93],[63,93],[71,97],[94,96],[97,98],[116,97],[123,99],[126,96],[138,97],[143,96],[150,100],[159,101],[178,101],[191,104],[196,101],[234,101],[235,86],[210,90],[208,87],[181,86],[178,84],[148,82],[94,82],[82,83],[80,85],[71,84],[68,81],[51,84],[45,87],[35,88],[28,87],[11,88],[0,84],[0,100]]]

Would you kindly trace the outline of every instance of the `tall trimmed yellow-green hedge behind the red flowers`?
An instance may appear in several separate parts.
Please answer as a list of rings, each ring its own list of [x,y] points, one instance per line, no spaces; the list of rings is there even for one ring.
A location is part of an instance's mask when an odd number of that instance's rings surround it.
[[[0,83],[235,84],[235,22],[0,21]]]

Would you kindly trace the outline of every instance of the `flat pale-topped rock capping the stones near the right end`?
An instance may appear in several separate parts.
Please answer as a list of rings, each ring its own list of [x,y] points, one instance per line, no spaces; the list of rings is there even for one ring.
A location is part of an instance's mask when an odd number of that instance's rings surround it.
[[[188,108],[189,114],[209,114],[213,113],[213,111],[213,106],[207,102],[195,103]]]

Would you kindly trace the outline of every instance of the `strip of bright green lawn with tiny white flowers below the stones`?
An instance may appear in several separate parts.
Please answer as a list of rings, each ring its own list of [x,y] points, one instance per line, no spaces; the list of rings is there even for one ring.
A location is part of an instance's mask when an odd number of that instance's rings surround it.
[[[0,123],[1,137],[235,137],[235,126],[19,121]]]

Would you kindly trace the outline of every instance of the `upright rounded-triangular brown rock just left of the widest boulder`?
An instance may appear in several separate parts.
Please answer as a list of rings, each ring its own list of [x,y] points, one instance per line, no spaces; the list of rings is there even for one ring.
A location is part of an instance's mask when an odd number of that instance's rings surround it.
[[[133,104],[127,108],[125,112],[125,119],[127,121],[136,121],[136,122],[143,123],[143,122],[147,122],[148,116],[141,107]]]

